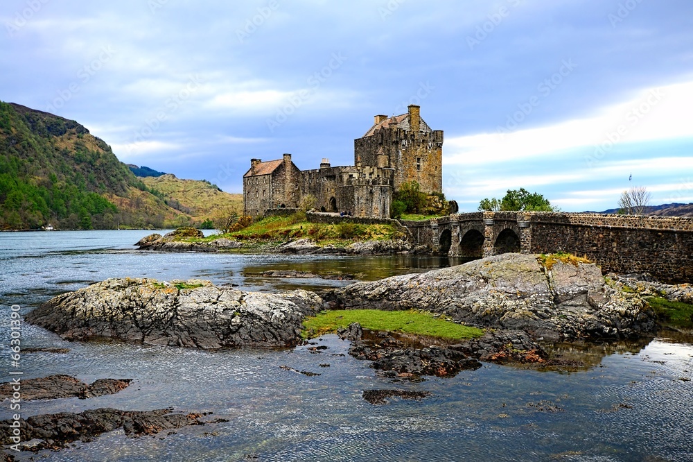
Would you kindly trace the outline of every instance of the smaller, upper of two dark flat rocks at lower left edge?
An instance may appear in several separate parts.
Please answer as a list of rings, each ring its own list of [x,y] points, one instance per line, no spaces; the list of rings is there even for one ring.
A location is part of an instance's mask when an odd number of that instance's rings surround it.
[[[66,397],[79,397],[82,400],[91,397],[113,395],[124,388],[128,388],[131,379],[98,379],[92,384],[85,384],[69,375],[51,375],[40,379],[19,379],[16,382],[4,382],[0,384],[0,401],[12,397],[15,388],[21,389],[21,399],[55,400]]]

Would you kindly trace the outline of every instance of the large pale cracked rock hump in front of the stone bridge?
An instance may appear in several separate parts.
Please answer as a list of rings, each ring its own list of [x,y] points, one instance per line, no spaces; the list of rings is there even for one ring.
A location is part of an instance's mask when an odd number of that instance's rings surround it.
[[[595,264],[504,254],[428,273],[358,282],[324,293],[334,307],[426,309],[480,327],[545,339],[620,339],[656,328],[643,300],[606,284]]]

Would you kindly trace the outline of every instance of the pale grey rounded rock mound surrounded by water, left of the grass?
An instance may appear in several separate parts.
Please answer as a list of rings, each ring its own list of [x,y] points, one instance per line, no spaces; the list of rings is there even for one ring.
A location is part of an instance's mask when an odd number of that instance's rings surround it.
[[[109,279],[52,298],[26,316],[64,339],[109,337],[151,345],[220,348],[295,345],[315,293],[244,292],[209,281]]]

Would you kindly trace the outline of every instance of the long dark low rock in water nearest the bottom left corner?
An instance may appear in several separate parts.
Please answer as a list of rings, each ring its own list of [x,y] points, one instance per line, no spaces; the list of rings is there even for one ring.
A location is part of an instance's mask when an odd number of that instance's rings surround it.
[[[171,409],[119,411],[109,408],[90,409],[80,413],[42,414],[17,421],[21,429],[19,438],[13,433],[12,425],[15,420],[1,421],[0,444],[12,445],[19,441],[24,443],[41,440],[33,446],[24,447],[20,444],[19,447],[32,452],[45,449],[59,450],[73,441],[89,441],[100,434],[119,428],[122,428],[126,435],[137,437],[155,435],[159,431],[179,429],[188,425],[226,421],[204,421],[204,416],[207,416],[207,413],[182,414],[173,413]]]

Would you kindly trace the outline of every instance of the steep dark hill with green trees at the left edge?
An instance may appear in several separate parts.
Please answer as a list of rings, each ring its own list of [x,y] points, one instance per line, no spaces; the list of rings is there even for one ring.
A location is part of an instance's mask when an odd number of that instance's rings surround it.
[[[76,121],[0,101],[0,230],[200,224],[170,197]]]

